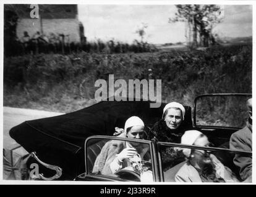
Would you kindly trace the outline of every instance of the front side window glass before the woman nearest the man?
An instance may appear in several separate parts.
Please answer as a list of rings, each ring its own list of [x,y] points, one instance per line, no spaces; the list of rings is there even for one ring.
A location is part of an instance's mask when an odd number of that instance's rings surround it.
[[[160,148],[161,172],[163,172],[164,182],[233,183],[251,180],[251,171],[246,172],[247,177],[244,177],[237,165],[240,161],[245,166],[251,167],[251,153],[231,151],[225,149],[225,145],[216,148],[211,143],[208,143],[207,147],[197,148],[164,143],[159,143],[158,147]]]

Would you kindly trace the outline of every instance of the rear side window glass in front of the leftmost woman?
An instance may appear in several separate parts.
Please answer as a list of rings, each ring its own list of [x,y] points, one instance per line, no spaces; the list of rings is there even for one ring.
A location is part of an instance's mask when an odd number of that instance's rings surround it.
[[[85,158],[88,174],[153,181],[149,143],[93,138],[86,144]]]

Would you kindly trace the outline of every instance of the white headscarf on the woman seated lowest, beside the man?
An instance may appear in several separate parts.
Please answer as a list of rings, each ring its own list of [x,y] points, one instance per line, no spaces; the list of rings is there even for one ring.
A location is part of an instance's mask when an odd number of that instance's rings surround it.
[[[202,132],[197,130],[186,131],[181,137],[181,143],[186,145],[193,145],[193,143],[195,143],[195,140],[197,140],[200,135],[202,135]],[[191,149],[182,148],[182,152],[187,158],[189,158],[191,154]]]

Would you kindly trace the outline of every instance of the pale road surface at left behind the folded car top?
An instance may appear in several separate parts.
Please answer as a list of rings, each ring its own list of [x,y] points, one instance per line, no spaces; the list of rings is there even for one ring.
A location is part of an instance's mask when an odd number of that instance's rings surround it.
[[[12,149],[12,148],[19,146],[19,144],[17,142],[15,142],[15,140],[12,139],[9,135],[9,131],[12,127],[14,127],[20,123],[23,123],[24,121],[31,120],[31,119],[47,118],[47,117],[51,117],[51,116],[59,116],[62,114],[63,113],[55,113],[55,112],[49,112],[49,111],[4,107],[3,148]],[[23,148],[19,148],[16,151],[18,151],[22,155],[27,152]]]

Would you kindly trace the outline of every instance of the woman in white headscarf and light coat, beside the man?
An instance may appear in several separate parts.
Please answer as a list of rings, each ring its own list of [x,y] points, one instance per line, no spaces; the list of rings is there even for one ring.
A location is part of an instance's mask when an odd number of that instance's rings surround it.
[[[207,136],[197,130],[186,131],[181,143],[208,147]],[[209,151],[181,148],[187,162],[175,175],[176,182],[238,182],[232,171]]]

